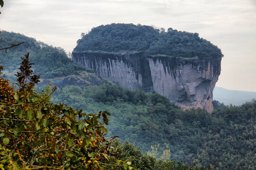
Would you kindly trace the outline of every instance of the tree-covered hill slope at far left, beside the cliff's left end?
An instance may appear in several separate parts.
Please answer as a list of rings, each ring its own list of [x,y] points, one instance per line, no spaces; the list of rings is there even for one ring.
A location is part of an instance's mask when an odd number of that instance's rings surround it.
[[[0,51],[1,65],[4,66],[5,71],[9,72],[9,75],[13,76],[18,71],[20,57],[23,57],[28,51],[31,62],[36,65],[34,67],[35,73],[43,78],[77,75],[81,70],[89,71],[89,69],[71,61],[60,47],[49,46],[23,34],[9,33],[7,31],[1,31],[0,37],[2,38],[0,48],[8,47],[10,43],[24,42],[15,48],[8,49],[7,53],[3,50]]]

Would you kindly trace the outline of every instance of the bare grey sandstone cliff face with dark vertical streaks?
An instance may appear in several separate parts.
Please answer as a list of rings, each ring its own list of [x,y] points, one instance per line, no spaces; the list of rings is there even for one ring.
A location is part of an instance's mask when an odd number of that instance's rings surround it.
[[[145,56],[144,52],[73,52],[74,61],[129,89],[156,91],[183,109],[212,107],[212,91],[220,74],[219,59]]]

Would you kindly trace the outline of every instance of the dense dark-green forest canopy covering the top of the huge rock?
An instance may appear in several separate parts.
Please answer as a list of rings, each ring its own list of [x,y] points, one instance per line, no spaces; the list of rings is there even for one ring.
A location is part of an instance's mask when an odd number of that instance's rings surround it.
[[[77,41],[75,52],[81,51],[145,51],[146,55],[166,55],[183,58],[220,58],[220,49],[199,37],[168,28],[167,32],[152,26],[110,24],[92,28]]]

